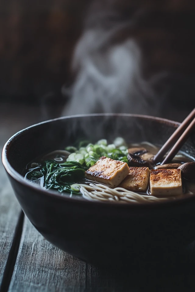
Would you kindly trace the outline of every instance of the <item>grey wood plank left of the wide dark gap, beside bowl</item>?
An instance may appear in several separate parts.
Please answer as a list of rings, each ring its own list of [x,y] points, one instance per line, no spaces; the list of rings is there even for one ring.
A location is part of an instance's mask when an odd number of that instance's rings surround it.
[[[18,130],[40,120],[34,107],[0,104],[0,152],[3,145]],[[0,285],[12,245],[21,208],[13,193],[0,161]]]

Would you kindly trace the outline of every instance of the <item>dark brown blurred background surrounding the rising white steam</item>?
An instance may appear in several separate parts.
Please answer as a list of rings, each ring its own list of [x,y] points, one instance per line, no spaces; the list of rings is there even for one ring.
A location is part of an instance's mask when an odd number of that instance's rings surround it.
[[[2,0],[0,102],[63,107],[68,94],[62,87],[74,80],[71,61],[84,23],[85,29],[105,33],[127,21],[131,24],[116,32],[108,47],[129,37],[136,41],[143,76],[154,82],[153,103],[161,101],[152,114],[180,121],[195,106],[194,19],[195,4],[189,0]],[[131,109],[127,112],[139,113]]]

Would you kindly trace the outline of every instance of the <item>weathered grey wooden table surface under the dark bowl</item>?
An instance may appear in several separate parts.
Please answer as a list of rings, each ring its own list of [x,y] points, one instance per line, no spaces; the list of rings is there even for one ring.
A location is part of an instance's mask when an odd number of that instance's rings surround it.
[[[43,119],[40,108],[0,104],[1,150],[16,131]],[[100,269],[76,259],[23,216],[0,162],[0,292],[195,291],[194,263],[194,244],[177,263],[143,262],[135,269]]]

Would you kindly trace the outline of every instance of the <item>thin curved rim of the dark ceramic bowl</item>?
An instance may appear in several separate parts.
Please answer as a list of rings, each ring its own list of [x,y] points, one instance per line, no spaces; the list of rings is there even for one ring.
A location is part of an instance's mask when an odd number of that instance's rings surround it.
[[[66,119],[74,119],[74,118],[77,118],[77,117],[90,117],[90,116],[129,116],[129,117],[138,117],[138,118],[142,118],[142,119],[146,119],[146,120],[153,120],[153,121],[157,121],[158,123],[164,123],[164,124],[170,124],[172,125],[173,127],[178,127],[179,126],[179,122],[176,122],[176,121],[172,121],[172,120],[168,120],[168,119],[165,119],[165,118],[161,118],[161,117],[155,117],[155,116],[147,116],[147,115],[140,115],[140,114],[130,114],[130,113],[94,113],[94,114],[82,114],[82,115],[71,115],[71,116],[62,116],[62,117],[59,117],[59,118],[55,118],[55,119],[50,119],[50,120],[46,120],[46,121],[42,121],[40,123],[36,123],[36,124],[33,124],[27,128],[24,128],[20,131],[18,131],[17,133],[15,133],[14,135],[12,135],[12,137],[9,138],[9,140],[5,143],[3,149],[2,149],[2,163],[4,165],[4,168],[6,170],[6,172],[13,178],[15,179],[17,182],[19,182],[20,184],[26,186],[27,188],[30,188],[34,191],[37,191],[38,193],[41,193],[43,195],[46,195],[46,196],[50,196],[52,197],[53,199],[60,199],[60,200],[65,200],[65,201],[71,201],[71,202],[79,202],[81,204],[89,204],[89,205],[94,205],[95,206],[115,206],[117,208],[133,208],[133,209],[137,209],[137,208],[153,208],[153,207],[163,207],[163,206],[167,206],[167,205],[176,205],[180,202],[186,202],[186,201],[189,201],[189,200],[192,200],[195,198],[195,195],[194,196],[186,196],[185,198],[178,198],[176,200],[167,200],[167,201],[163,201],[163,202],[149,202],[149,203],[139,203],[139,204],[136,204],[136,203],[132,203],[132,204],[121,204],[121,203],[118,203],[118,202],[112,202],[112,201],[109,201],[109,202],[103,202],[103,201],[95,201],[95,200],[82,200],[80,197],[77,198],[77,197],[69,197],[67,195],[65,196],[62,196],[61,194],[59,194],[58,191],[55,191],[55,190],[47,190],[47,189],[42,189],[39,185],[37,184],[33,184],[32,182],[28,182],[28,180],[25,180],[24,177],[19,174],[19,172],[17,172],[15,169],[13,169],[13,167],[11,166],[11,164],[9,163],[9,160],[8,160],[8,157],[7,157],[7,150],[8,148],[12,145],[12,142],[17,139],[17,137],[19,137],[20,135],[24,134],[26,131],[28,131],[29,129],[33,128],[33,127],[37,127],[39,125],[42,125],[42,124],[45,124],[45,123],[52,123],[56,120],[66,120]],[[68,194],[68,193],[65,193],[65,194]]]

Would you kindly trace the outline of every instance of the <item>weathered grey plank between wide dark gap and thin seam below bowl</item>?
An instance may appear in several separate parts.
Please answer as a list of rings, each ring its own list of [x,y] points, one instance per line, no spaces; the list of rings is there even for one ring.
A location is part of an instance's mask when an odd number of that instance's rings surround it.
[[[84,292],[86,263],[56,248],[25,217],[9,292]]]

